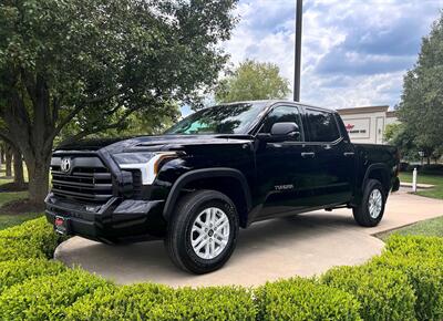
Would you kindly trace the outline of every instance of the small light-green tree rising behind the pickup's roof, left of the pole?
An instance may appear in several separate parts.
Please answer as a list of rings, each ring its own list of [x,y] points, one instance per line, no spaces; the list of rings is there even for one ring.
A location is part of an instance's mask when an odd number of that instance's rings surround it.
[[[279,74],[274,63],[247,60],[217,86],[217,102],[284,99],[289,93],[289,82]]]

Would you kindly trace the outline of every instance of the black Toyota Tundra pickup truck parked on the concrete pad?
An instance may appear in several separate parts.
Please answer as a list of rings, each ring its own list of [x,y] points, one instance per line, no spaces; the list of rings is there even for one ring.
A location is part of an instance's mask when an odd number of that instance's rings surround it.
[[[231,103],[161,136],[60,146],[45,213],[61,234],[164,239],[179,268],[205,273],[229,259],[239,227],[254,221],[347,207],[359,225],[375,226],[399,189],[399,161],[394,147],[350,143],[333,111]]]

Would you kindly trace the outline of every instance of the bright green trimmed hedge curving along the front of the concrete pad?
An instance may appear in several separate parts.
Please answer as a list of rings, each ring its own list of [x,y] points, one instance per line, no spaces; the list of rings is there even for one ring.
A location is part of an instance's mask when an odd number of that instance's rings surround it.
[[[367,265],[256,290],[116,287],[48,260],[60,241],[44,218],[0,231],[0,320],[443,319],[443,238],[394,235]]]

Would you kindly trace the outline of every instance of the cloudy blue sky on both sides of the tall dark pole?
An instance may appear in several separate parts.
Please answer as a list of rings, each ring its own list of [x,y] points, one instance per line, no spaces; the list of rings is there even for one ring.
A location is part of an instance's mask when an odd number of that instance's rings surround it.
[[[274,62],[292,86],[295,2],[240,0],[240,21],[223,44],[230,63]],[[305,0],[301,101],[392,107],[442,9],[443,0]]]

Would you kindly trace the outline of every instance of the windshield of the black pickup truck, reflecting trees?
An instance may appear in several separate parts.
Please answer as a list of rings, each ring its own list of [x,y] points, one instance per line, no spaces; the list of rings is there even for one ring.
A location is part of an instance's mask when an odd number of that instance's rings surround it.
[[[165,134],[247,134],[265,103],[218,105],[198,111],[178,122]]]

